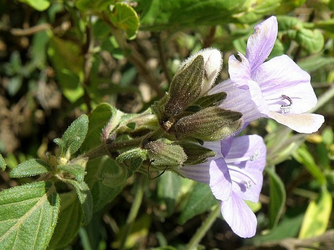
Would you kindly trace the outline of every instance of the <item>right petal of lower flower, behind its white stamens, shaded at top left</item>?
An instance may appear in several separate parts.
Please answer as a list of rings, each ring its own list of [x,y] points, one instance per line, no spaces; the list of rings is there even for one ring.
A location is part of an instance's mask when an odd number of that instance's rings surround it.
[[[236,137],[231,150],[225,158],[231,178],[244,180],[244,183],[232,184],[232,190],[242,199],[258,201],[263,182],[263,169],[266,165],[266,145],[259,135],[244,135]],[[248,157],[250,160],[236,162],[234,159]],[[230,163],[234,161],[233,163]],[[229,166],[233,165],[233,169]],[[237,171],[237,169],[241,171]],[[245,175],[247,173],[247,175]]]

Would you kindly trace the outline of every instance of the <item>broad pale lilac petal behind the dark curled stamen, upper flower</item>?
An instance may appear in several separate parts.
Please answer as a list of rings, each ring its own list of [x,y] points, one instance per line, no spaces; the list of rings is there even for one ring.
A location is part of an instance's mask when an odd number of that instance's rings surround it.
[[[282,95],[292,99],[289,113],[305,113],[317,102],[310,75],[287,55],[263,63],[257,68],[253,80],[260,86],[271,111],[281,113],[281,105],[290,104]]]

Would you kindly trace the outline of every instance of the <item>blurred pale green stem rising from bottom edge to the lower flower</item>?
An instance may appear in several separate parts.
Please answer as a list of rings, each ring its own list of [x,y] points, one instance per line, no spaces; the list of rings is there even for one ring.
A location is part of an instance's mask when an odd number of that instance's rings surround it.
[[[202,226],[196,231],[194,236],[191,238],[185,250],[194,250],[198,246],[199,242],[202,240],[206,232],[211,228],[212,224],[214,224],[216,217],[220,212],[220,205],[217,205],[214,210],[209,214],[206,218]]]

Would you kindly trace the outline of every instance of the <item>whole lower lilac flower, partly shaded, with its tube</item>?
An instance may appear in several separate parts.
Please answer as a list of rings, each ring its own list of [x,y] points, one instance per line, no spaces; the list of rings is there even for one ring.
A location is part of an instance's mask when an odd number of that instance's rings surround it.
[[[209,164],[186,165],[177,172],[189,179],[209,183],[216,199],[221,201],[221,213],[231,229],[240,237],[254,236],[256,217],[243,200],[257,202],[262,188],[266,163],[262,137],[230,137],[205,142],[204,146],[217,152]]]

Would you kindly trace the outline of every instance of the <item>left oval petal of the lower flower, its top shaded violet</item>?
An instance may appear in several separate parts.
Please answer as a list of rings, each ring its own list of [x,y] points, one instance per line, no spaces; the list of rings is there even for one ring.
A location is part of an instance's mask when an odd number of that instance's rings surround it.
[[[232,181],[223,158],[210,162],[210,184],[212,193],[218,200],[227,200],[232,192]]]

